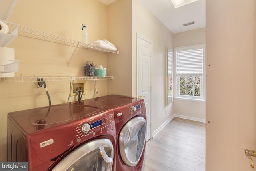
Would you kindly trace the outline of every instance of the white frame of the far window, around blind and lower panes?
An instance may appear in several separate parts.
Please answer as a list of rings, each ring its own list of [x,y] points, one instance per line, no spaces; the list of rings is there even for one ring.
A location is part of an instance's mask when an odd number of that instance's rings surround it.
[[[202,74],[198,73],[185,73],[185,74],[177,74],[177,52],[183,51],[183,50],[193,50],[193,49],[203,49],[203,68],[202,68]],[[180,95],[180,76],[200,76],[201,79],[201,92],[200,97],[198,96],[190,96],[190,95]],[[195,44],[195,45],[189,45],[189,46],[180,46],[174,48],[174,98],[181,98],[181,99],[187,99],[187,100],[200,100],[205,101],[205,44]]]

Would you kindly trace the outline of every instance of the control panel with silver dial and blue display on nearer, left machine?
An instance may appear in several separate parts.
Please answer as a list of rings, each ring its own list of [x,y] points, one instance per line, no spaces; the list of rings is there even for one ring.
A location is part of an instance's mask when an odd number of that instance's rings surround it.
[[[116,136],[113,110],[81,117],[70,123],[74,130],[75,144],[80,144],[99,135]]]

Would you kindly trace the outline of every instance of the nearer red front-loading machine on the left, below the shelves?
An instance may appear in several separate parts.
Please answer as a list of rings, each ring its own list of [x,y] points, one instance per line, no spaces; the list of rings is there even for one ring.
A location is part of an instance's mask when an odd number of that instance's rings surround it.
[[[29,171],[114,171],[112,109],[64,103],[8,113],[8,161]]]

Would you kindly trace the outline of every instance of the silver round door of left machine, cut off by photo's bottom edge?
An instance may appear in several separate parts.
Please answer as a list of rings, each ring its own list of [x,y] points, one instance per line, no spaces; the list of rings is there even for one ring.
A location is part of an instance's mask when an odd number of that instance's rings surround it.
[[[113,145],[109,139],[96,139],[78,147],[52,171],[111,171]]]

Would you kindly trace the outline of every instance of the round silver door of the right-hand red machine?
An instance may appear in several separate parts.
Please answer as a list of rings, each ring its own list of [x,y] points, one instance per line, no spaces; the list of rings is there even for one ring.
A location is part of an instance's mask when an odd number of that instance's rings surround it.
[[[143,117],[130,119],[119,134],[119,151],[128,166],[136,166],[140,161],[146,143],[146,120]]]

